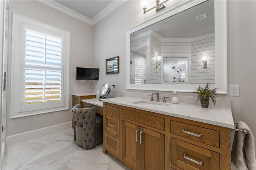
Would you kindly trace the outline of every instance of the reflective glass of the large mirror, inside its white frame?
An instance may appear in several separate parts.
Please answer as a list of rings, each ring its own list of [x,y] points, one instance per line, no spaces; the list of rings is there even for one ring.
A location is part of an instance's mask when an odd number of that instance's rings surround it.
[[[198,20],[198,16],[204,18]],[[131,33],[130,84],[215,84],[214,43],[214,1]],[[207,68],[203,56],[207,58]],[[176,63],[168,58],[188,61]]]

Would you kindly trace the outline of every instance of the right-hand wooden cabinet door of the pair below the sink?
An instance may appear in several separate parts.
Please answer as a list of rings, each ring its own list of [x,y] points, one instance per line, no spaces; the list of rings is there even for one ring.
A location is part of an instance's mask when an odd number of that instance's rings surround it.
[[[140,169],[164,170],[164,135],[140,127]]]

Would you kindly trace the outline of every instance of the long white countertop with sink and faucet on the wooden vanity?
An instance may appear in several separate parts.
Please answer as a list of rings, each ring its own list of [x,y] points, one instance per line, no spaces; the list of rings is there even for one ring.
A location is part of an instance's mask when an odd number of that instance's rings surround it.
[[[147,99],[140,99],[140,98],[119,97],[119,98],[105,99],[104,102],[117,104],[121,106],[132,107],[132,108],[146,110],[146,111],[152,111],[155,113],[170,115],[174,117],[180,117],[180,118],[189,119],[193,121],[199,121],[199,122],[208,123],[212,125],[234,128],[234,121],[233,121],[231,109],[224,109],[224,108],[217,108],[217,107],[202,108],[201,106],[198,106],[198,105],[172,104],[170,102],[166,102],[166,104],[169,104],[169,105],[162,108],[155,108],[154,106],[143,107],[143,106],[138,106],[137,104],[134,104],[134,102],[139,102],[142,100],[150,101]],[[160,103],[162,102],[159,102],[159,104]]]

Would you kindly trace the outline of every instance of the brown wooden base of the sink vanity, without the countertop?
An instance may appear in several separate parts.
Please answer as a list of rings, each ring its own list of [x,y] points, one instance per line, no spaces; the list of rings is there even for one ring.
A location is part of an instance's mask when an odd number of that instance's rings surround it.
[[[229,128],[106,102],[103,110],[103,152],[133,170],[231,170]]]

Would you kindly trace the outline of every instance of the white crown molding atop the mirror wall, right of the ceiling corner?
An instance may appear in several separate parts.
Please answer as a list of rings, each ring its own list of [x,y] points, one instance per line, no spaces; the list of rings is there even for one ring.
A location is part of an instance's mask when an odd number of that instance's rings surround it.
[[[111,2],[106,8],[104,8],[101,12],[99,12],[94,18],[92,18],[92,25],[95,25],[100,20],[108,16],[111,12],[113,12],[116,8],[124,4],[127,0],[114,0]]]

